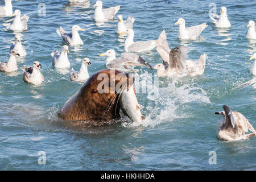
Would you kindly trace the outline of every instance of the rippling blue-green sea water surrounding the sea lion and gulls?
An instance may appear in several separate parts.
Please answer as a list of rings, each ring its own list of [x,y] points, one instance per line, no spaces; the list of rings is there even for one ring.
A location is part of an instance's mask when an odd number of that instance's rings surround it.
[[[21,32],[27,56],[19,59],[18,67],[40,61],[45,81],[39,86],[26,84],[22,69],[0,73],[0,169],[255,170],[256,137],[239,142],[218,140],[216,129],[221,118],[214,114],[226,104],[244,114],[256,128],[256,90],[251,86],[234,89],[253,78],[249,58],[256,51],[256,42],[245,35],[247,22],[256,17],[255,1],[103,1],[104,7],[121,5],[117,15],[124,19],[128,15],[135,18],[135,41],[157,39],[165,29],[171,48],[188,45],[189,59],[208,53],[205,72],[195,77],[159,78],[159,86],[151,92],[138,92],[146,117],[142,125],[126,119],[113,126],[73,128],[57,119],[56,111],[82,83],[69,81],[68,71],[51,65],[50,53],[64,45],[56,29],[62,26],[71,31],[73,24],[85,29],[80,32],[84,46],[69,48],[68,57],[75,70],[84,57],[89,57],[90,75],[106,68],[106,57],[100,57],[101,53],[115,49],[119,56],[125,41],[115,34],[117,19],[94,22],[95,2],[47,0],[42,16],[38,13],[41,1],[13,1],[14,10],[30,16],[28,30]],[[210,3],[215,3],[218,14],[220,7],[226,6],[230,30],[212,26]],[[174,25],[178,18],[184,18],[187,26],[207,22],[208,27],[200,40],[180,42]],[[7,61],[14,39],[14,32],[2,25],[11,19],[1,18],[0,61]],[[139,55],[151,65],[162,62],[156,49]],[[138,68],[142,80],[155,73]],[[46,155],[46,164],[38,163],[40,151]],[[209,164],[210,151],[216,152],[216,164]]]

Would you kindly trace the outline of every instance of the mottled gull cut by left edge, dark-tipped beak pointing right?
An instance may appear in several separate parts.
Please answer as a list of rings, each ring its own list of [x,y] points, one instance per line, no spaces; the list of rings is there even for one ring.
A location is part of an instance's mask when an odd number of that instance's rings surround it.
[[[19,56],[19,53],[17,50],[11,51],[10,58],[7,62],[1,63],[0,62],[0,71],[1,72],[14,72],[18,69],[17,62],[16,62],[16,56]]]

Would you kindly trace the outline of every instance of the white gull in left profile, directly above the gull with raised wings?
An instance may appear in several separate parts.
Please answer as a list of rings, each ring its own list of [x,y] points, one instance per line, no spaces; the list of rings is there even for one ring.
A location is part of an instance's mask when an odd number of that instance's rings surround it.
[[[204,30],[204,28],[208,26],[206,23],[202,23],[186,28],[185,20],[183,18],[179,18],[175,24],[179,24],[178,38],[182,40],[196,39]]]

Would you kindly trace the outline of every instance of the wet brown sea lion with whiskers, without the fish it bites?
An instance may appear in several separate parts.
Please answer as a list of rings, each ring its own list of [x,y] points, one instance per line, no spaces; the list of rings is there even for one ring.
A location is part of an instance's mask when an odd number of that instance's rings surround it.
[[[134,77],[117,69],[94,73],[63,108],[57,117],[65,121],[106,121],[120,118],[120,94],[134,83]]]

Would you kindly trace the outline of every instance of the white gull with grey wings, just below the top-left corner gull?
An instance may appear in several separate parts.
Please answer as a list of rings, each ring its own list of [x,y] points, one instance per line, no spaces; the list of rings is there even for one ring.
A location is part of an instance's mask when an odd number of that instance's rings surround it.
[[[20,17],[20,10],[15,10],[13,16],[15,16],[13,23],[3,23],[3,26],[6,26],[7,29],[13,30],[13,31],[23,31],[27,30],[27,22],[28,19],[30,19],[29,16],[24,14],[22,17]]]

